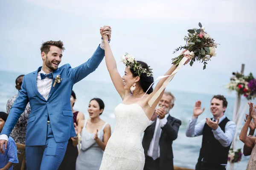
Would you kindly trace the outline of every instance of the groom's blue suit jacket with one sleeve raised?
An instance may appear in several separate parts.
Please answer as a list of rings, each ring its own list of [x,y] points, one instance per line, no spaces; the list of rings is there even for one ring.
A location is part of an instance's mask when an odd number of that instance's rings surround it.
[[[95,71],[104,58],[105,52],[98,46],[93,56],[76,68],[71,68],[65,64],[53,71],[53,80],[57,75],[61,75],[61,82],[52,86],[47,100],[38,92],[37,74],[41,70],[29,73],[23,77],[21,90],[13,104],[8,119],[3,127],[1,134],[9,134],[16,125],[20,114],[30,103],[31,113],[28,117],[26,145],[45,145],[47,138],[47,117],[51,121],[52,132],[56,142],[64,142],[70,137],[76,136],[73,113],[70,105],[70,95],[73,85]]]

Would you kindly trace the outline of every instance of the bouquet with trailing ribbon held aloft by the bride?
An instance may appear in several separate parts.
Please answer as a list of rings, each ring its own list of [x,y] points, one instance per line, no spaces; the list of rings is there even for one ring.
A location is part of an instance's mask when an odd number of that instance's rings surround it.
[[[215,48],[217,45],[210,36],[204,31],[204,27],[201,23],[198,24],[199,29],[193,28],[188,30],[188,35],[184,37],[186,45],[176,48],[173,54],[177,51],[186,49],[184,54],[190,54],[193,58],[191,59],[190,65],[192,66],[195,60],[199,62],[204,62],[204,68],[206,69],[207,61],[211,59],[212,56],[216,55]],[[183,54],[172,59],[172,64],[176,67],[179,65]]]

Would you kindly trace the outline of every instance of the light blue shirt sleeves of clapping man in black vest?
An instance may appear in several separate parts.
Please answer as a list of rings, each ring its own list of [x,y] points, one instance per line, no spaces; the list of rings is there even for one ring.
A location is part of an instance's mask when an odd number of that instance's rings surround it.
[[[225,118],[226,118],[225,115],[219,118],[219,124]],[[194,137],[194,136],[200,136],[203,134],[203,129],[206,123],[206,119],[203,119],[201,122],[195,125],[196,122],[197,122],[197,119],[193,119],[193,118],[189,119],[188,127],[186,129],[186,136]],[[216,130],[212,129],[212,133],[215,139],[217,139],[222,146],[228,147],[234,139],[234,136],[236,133],[236,124],[232,121],[228,121],[227,124],[225,125],[225,133],[221,130],[221,127],[219,126]]]

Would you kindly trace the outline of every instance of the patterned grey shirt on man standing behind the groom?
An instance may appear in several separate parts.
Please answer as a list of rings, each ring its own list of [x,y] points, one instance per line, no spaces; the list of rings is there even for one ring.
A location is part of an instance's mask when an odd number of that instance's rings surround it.
[[[10,113],[10,110],[12,108],[13,103],[15,102],[16,98],[17,98],[17,94],[14,95],[11,99],[8,100],[7,104],[6,104],[6,111],[7,114]],[[25,139],[26,139],[26,127],[27,127],[27,123],[28,123],[28,116],[30,113],[30,105],[29,103],[26,105],[26,109],[25,111],[20,115],[20,118],[17,122],[17,124],[15,125],[15,127],[12,130],[12,133],[10,134],[10,136],[14,139],[14,141],[16,143],[19,144],[25,144]],[[21,153],[18,150],[18,153]]]

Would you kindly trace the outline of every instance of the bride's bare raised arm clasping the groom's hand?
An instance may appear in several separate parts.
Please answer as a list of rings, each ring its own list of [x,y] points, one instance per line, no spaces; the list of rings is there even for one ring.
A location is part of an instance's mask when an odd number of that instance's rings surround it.
[[[110,45],[108,43],[108,35],[105,34],[106,31],[110,30],[109,27],[103,27],[100,29],[100,34],[104,40],[105,45],[105,61],[108,68],[108,72],[110,74],[111,80],[116,88],[116,91],[119,93],[121,98],[123,99],[125,96],[124,82],[122,81],[122,77],[117,71],[116,60],[112,54]]]

